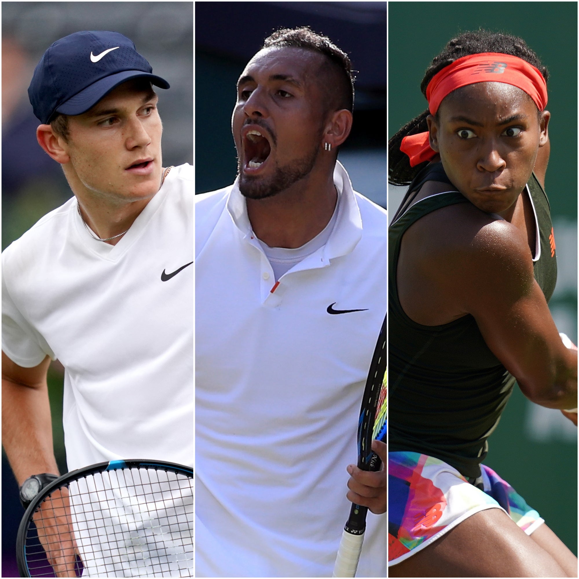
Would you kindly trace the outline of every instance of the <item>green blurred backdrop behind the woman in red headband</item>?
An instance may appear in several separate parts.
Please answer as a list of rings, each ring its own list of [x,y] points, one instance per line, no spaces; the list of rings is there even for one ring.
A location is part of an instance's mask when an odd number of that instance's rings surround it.
[[[388,135],[427,108],[420,81],[431,59],[460,31],[478,28],[521,36],[549,69],[545,189],[558,262],[549,307],[559,331],[577,343],[577,3],[390,2]],[[420,42],[409,42],[409,33]],[[389,187],[391,215],[404,193]],[[515,389],[485,464],[577,554],[577,428],[569,420]]]

